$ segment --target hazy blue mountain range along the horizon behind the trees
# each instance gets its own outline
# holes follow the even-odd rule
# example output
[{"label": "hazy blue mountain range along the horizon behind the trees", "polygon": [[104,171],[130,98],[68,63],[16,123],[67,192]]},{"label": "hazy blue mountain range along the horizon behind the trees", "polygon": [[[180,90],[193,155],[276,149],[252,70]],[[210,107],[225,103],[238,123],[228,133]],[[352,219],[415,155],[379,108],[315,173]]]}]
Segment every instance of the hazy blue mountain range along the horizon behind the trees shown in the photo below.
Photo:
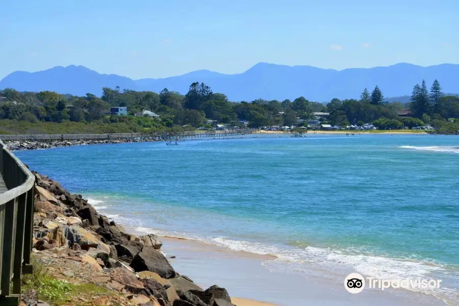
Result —
[{"label": "hazy blue mountain range along the horizon behind the trees", "polygon": [[322,69],[312,66],[286,66],[258,63],[237,74],[197,70],[164,79],[133,80],[116,74],[101,74],[84,66],[57,66],[44,71],[15,71],[0,81],[0,89],[18,91],[57,91],[73,95],[100,96],[102,87],[160,92],[167,88],[185,94],[193,82],[204,82],[214,92],[232,101],[294,99],[304,96],[325,102],[332,98],[358,98],[364,88],[378,85],[386,97],[411,94],[413,86],[425,80],[430,87],[438,79],[444,92],[459,92],[459,65],[422,67],[400,63],[387,67]]}]

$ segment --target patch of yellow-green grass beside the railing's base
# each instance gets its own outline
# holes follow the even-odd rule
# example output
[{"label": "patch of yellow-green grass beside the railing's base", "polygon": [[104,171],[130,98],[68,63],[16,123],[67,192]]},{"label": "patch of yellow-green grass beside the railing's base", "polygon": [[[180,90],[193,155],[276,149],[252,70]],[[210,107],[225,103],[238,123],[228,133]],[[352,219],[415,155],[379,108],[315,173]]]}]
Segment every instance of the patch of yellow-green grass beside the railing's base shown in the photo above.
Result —
[{"label": "patch of yellow-green grass beside the railing's base", "polygon": [[[47,272],[46,266],[32,258],[34,272],[22,277],[22,293],[36,290],[38,299],[46,301],[50,305],[66,305],[70,301],[78,298],[91,298],[98,295],[114,295],[108,288],[92,283],[71,284],[61,279],[57,279]],[[80,305],[87,303],[80,302]]]}]

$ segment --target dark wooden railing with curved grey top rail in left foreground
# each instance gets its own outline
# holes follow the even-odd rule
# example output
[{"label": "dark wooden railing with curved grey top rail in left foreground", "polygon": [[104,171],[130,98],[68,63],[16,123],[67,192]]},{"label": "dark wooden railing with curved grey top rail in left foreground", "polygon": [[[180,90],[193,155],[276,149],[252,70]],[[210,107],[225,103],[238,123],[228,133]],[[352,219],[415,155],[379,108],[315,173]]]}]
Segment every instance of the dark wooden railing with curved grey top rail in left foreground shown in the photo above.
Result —
[{"label": "dark wooden railing with curved grey top rail in left foreground", "polygon": [[19,305],[21,273],[32,273],[30,253],[35,176],[0,141],[0,305]]}]

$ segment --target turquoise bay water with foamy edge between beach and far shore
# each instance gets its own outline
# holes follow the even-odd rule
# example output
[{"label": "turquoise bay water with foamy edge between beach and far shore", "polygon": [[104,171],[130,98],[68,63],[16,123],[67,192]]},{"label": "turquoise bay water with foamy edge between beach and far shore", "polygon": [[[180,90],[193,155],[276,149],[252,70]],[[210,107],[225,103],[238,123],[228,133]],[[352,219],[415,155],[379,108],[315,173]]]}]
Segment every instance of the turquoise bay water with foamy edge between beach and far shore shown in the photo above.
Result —
[{"label": "turquoise bay water with foamy edge between beach and far shore", "polygon": [[[309,135],[15,154],[138,232],[272,254],[267,266],[440,278],[459,294],[459,138]],[[457,296],[455,297],[457,298]]]}]

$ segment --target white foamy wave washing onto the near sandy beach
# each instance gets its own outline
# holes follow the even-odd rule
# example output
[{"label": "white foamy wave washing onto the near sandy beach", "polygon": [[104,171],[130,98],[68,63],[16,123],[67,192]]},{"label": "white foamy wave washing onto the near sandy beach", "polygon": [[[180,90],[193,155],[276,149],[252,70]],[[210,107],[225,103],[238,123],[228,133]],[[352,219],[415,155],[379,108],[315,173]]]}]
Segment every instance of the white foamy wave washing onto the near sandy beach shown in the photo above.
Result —
[{"label": "white foamy wave washing onto the near sandy beach", "polygon": [[[459,284],[459,275],[456,269],[450,269],[432,262],[415,261],[412,259],[395,259],[372,254],[363,254],[356,249],[338,250],[331,247],[308,246],[302,243],[296,245],[270,245],[259,242],[235,240],[227,237],[200,237],[194,234],[158,231],[147,227],[136,227],[139,233],[154,233],[163,237],[177,239],[197,240],[200,242],[226,247],[234,251],[245,251],[273,257],[266,260],[263,265],[267,268],[275,267],[296,272],[309,273],[313,268],[322,268],[334,273],[349,271],[358,272],[367,277],[379,279],[443,279],[446,284]],[[445,284],[446,283],[446,284]],[[436,296],[442,300],[455,300],[457,291],[449,287],[435,289],[412,289]]]}]

